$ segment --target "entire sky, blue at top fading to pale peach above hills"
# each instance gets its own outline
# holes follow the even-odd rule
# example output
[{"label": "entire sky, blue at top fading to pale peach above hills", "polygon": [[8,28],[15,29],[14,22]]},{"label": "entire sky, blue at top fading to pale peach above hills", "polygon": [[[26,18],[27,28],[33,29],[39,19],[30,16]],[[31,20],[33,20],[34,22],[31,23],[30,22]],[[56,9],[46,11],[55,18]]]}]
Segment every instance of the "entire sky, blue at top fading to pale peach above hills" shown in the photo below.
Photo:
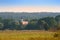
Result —
[{"label": "entire sky, blue at top fading to pale peach above hills", "polygon": [[60,12],[60,0],[0,0],[0,12]]}]

